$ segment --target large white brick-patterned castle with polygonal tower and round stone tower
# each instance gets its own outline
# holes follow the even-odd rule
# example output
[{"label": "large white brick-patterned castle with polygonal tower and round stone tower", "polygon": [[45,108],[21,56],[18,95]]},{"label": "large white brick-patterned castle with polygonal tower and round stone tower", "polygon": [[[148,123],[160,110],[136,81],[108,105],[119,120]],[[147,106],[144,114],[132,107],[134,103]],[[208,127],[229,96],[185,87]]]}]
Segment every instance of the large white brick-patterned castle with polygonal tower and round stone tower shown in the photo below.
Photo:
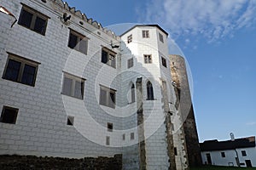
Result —
[{"label": "large white brick-patterned castle with polygonal tower and round stone tower", "polygon": [[201,164],[185,62],[160,26],[116,36],[61,0],[2,2],[0,155]]}]

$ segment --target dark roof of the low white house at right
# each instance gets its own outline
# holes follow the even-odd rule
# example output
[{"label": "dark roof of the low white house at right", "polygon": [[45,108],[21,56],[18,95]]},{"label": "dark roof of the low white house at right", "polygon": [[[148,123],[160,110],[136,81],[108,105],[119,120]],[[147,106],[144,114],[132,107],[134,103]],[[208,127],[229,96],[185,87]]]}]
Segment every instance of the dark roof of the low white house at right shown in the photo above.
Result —
[{"label": "dark roof of the low white house at right", "polygon": [[212,151],[212,150],[235,150],[238,148],[251,148],[255,147],[255,136],[235,139],[218,141],[214,140],[206,140],[203,143],[200,143],[201,151]]}]

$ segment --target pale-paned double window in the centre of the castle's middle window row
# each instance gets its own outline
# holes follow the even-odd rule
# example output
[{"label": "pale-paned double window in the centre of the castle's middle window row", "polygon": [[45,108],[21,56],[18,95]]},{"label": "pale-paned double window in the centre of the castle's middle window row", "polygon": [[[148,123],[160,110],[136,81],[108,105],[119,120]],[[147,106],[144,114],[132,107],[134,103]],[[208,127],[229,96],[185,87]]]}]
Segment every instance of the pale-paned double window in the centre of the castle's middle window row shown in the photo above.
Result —
[{"label": "pale-paned double window in the centre of the castle's middle window row", "polygon": [[83,78],[64,73],[61,94],[84,99],[84,81],[85,79]]}]

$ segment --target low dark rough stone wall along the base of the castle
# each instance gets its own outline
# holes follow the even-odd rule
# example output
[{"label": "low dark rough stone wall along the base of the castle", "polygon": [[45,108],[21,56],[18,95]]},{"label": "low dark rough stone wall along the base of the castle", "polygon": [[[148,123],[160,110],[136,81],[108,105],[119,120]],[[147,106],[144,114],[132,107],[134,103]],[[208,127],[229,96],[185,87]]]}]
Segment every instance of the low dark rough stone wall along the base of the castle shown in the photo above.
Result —
[{"label": "low dark rough stone wall along the base of the castle", "polygon": [[122,169],[122,155],[114,157],[84,157],[68,159],[60,157],[0,156],[0,169]]}]

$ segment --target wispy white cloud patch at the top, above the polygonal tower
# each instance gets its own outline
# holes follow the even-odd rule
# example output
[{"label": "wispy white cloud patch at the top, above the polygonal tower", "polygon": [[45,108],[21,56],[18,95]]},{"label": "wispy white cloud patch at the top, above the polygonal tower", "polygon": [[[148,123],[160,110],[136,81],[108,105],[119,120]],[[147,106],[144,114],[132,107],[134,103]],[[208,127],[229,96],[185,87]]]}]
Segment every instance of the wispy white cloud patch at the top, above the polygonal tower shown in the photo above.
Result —
[{"label": "wispy white cloud patch at the top, above the polygonal tower", "polygon": [[142,20],[159,23],[172,37],[202,35],[211,42],[255,24],[256,1],[151,0]]}]

